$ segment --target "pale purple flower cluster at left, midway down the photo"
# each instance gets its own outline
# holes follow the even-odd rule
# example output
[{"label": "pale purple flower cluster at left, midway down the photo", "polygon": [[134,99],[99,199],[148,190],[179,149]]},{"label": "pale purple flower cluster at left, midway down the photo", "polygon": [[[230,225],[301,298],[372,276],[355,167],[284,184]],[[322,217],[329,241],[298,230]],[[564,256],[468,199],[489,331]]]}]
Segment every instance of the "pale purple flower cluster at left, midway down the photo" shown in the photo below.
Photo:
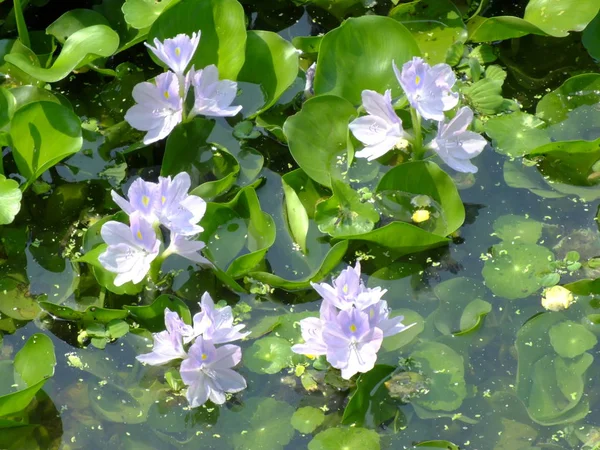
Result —
[{"label": "pale purple flower cluster at left, midway down the photo", "polygon": [[204,216],[206,202],[188,195],[190,185],[190,176],[182,172],[173,179],[159,177],[158,183],[138,178],[129,187],[127,200],[111,192],[115,203],[129,215],[129,226],[111,220],[100,230],[108,247],[98,260],[106,270],[117,274],[116,286],[128,281],[139,283],[150,271],[151,264],[159,257],[161,244],[167,242],[160,226],[170,233],[169,245],[159,261],[178,254],[200,264],[210,264],[199,253],[205,247],[204,242],[195,239],[203,231],[198,222]]}]

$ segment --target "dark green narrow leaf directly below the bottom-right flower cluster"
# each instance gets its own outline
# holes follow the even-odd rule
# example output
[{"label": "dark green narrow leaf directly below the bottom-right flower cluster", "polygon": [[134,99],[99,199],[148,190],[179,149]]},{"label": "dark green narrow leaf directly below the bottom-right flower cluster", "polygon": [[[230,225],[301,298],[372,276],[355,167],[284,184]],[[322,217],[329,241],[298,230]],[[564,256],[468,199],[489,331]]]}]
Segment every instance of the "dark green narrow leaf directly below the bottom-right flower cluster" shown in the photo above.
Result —
[{"label": "dark green narrow leaf directly below the bottom-right flower cluster", "polygon": [[[377,389],[383,387],[385,380],[394,372],[394,367],[378,364],[356,380],[356,388],[344,409],[342,424],[363,426],[369,409],[380,408],[380,399],[375,399]],[[377,401],[376,401],[377,400]]]}]

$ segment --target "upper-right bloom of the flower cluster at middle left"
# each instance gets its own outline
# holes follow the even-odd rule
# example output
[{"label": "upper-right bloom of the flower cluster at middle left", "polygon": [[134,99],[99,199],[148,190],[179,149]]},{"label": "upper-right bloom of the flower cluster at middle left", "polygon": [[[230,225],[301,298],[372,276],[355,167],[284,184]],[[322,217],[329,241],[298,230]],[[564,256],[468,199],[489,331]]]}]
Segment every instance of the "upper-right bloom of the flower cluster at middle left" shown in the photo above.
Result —
[{"label": "upper-right bloom of the flower cluster at middle left", "polygon": [[198,222],[206,212],[206,202],[188,195],[192,182],[186,172],[171,177],[159,177],[156,215],[171,232],[192,236],[204,230]]}]

